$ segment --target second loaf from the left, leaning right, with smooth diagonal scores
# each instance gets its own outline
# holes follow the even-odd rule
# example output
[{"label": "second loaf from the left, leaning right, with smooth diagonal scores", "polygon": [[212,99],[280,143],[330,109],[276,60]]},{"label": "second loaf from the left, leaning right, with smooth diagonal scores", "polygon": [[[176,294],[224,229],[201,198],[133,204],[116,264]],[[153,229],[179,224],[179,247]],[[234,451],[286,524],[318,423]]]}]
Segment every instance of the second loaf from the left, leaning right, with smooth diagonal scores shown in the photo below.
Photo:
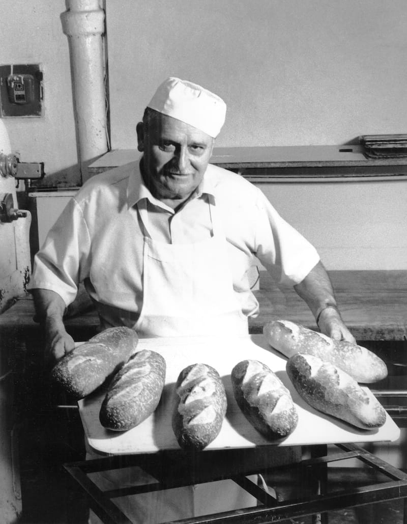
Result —
[{"label": "second loaf from the left, leaning right, with smooth diagonal scores", "polygon": [[113,377],[99,413],[101,424],[127,431],[156,410],[166,378],[166,361],[155,351],[143,350]]}]

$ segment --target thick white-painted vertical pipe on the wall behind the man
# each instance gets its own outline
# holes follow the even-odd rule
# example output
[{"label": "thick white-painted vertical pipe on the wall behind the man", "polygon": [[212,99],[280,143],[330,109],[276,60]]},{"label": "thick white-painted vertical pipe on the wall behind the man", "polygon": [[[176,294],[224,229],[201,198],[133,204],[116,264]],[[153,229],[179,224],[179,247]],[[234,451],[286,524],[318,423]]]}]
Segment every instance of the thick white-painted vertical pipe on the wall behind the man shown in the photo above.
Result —
[{"label": "thick white-painted vertical pipe on the wall behind the man", "polygon": [[87,166],[107,151],[103,40],[105,14],[98,0],[68,0],[61,15],[71,53],[73,103],[82,182]]}]

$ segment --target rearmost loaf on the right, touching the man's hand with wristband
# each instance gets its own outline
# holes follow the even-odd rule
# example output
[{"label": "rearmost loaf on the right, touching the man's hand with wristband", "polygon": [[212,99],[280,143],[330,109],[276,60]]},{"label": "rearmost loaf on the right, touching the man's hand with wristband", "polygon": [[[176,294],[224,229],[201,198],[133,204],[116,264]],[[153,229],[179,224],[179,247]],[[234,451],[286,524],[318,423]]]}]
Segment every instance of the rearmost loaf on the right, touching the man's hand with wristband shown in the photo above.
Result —
[{"label": "rearmost loaf on the right, touching the man's hand with wristband", "polygon": [[263,327],[267,342],[287,358],[302,353],[321,358],[348,373],[357,382],[370,384],[387,377],[386,364],[366,347],[338,341],[288,320]]}]

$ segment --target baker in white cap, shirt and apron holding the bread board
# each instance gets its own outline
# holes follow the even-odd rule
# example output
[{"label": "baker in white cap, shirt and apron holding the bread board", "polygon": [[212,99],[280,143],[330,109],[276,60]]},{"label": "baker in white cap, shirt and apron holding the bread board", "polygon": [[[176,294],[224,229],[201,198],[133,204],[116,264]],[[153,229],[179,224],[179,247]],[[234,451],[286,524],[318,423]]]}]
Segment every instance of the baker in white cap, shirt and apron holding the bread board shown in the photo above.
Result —
[{"label": "baker in white cap, shirt and apron holding the bread board", "polygon": [[[315,248],[259,188],[210,165],[225,114],[214,93],[168,78],[137,124],[141,159],[92,177],[68,203],[29,285],[52,359],[74,347],[63,315],[81,282],[102,330],[247,334],[259,308],[248,276],[254,257],[294,287],[323,333],[354,341]],[[193,511],[193,503],[180,509],[177,496],[167,499],[172,519]]]}]

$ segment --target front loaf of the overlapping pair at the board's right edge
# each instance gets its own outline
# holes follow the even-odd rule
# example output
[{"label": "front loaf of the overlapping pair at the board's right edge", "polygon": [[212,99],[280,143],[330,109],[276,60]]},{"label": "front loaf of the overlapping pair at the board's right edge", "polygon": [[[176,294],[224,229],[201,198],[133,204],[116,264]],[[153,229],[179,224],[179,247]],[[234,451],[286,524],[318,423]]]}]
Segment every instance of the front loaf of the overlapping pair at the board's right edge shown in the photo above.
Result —
[{"label": "front loaf of the overlapping pair at the board's right edge", "polygon": [[286,367],[299,395],[318,411],[361,429],[379,428],[386,422],[386,411],[372,392],[333,364],[297,354]]}]

